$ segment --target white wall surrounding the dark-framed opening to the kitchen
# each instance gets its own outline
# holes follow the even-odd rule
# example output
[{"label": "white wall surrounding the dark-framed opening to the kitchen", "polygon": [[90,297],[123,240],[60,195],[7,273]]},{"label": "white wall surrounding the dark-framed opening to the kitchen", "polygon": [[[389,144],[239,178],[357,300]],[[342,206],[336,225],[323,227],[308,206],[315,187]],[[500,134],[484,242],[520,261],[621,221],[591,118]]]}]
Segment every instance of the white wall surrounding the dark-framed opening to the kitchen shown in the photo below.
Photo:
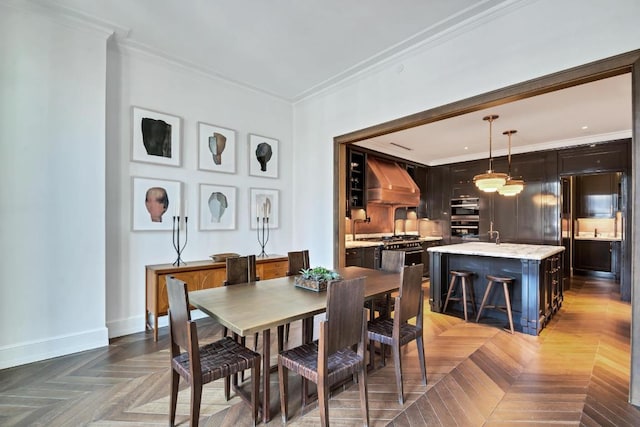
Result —
[{"label": "white wall surrounding the dark-framed opening to the kitchen", "polygon": [[[452,32],[295,105],[301,245],[332,263],[333,138],[368,126],[640,48],[640,2],[515,2],[491,21]],[[433,143],[440,143],[434,141]],[[317,180],[308,179],[318,177]]]}]

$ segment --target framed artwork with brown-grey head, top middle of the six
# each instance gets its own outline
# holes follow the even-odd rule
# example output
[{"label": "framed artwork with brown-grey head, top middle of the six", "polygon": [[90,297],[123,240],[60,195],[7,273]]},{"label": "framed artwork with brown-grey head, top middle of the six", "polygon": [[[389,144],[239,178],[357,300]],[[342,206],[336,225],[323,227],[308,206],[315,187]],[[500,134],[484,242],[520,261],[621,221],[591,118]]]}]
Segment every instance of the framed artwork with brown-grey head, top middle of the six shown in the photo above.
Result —
[{"label": "framed artwork with brown-grey head, top middle of the six", "polygon": [[198,169],[236,173],[236,131],[198,122]]}]

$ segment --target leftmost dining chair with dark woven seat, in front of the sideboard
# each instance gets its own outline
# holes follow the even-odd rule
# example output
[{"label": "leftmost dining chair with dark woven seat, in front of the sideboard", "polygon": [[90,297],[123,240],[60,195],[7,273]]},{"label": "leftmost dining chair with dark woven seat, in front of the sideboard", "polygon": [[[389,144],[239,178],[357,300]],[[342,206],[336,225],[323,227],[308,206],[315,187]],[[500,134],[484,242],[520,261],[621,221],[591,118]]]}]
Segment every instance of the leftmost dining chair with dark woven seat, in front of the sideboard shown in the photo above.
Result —
[{"label": "leftmost dining chair with dark woven seat, in front of the sideboard", "polygon": [[[251,351],[229,337],[202,347],[198,344],[198,329],[191,320],[187,284],[167,277],[169,297],[169,340],[171,343],[171,398],[169,425],[176,419],[180,377],[191,385],[191,426],[197,427],[204,384],[224,378],[224,397],[229,400],[230,376],[251,369],[251,410],[254,425],[258,422],[260,391],[260,354]],[[181,353],[182,349],[185,351]]]}]

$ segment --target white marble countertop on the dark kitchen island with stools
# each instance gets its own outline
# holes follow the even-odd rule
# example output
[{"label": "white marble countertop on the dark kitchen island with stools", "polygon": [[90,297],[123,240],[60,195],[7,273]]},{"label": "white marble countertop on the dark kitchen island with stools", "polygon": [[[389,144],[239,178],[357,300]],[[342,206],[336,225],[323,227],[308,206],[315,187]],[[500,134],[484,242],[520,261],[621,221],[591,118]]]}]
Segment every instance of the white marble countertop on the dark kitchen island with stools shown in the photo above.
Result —
[{"label": "white marble countertop on the dark kitchen island with stools", "polygon": [[443,252],[458,255],[479,255],[496,258],[542,260],[564,251],[564,246],[524,245],[519,243],[470,242],[456,245],[434,246],[429,252]]}]

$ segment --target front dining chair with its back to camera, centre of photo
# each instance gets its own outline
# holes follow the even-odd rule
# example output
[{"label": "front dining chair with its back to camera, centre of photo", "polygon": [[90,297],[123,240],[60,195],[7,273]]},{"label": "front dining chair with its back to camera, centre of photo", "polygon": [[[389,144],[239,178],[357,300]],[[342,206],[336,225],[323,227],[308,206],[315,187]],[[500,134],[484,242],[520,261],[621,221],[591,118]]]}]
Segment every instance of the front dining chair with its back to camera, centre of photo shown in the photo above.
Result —
[{"label": "front dining chair with its back to camera, centre of photo", "polygon": [[[317,341],[285,350],[278,355],[280,409],[287,422],[289,371],[317,385],[320,423],[329,425],[331,386],[358,375],[360,407],[369,425],[369,402],[365,366],[367,313],[364,303],[364,277],[330,282],[327,288],[325,320],[320,322]],[[357,347],[357,351],[354,348]]]}]

